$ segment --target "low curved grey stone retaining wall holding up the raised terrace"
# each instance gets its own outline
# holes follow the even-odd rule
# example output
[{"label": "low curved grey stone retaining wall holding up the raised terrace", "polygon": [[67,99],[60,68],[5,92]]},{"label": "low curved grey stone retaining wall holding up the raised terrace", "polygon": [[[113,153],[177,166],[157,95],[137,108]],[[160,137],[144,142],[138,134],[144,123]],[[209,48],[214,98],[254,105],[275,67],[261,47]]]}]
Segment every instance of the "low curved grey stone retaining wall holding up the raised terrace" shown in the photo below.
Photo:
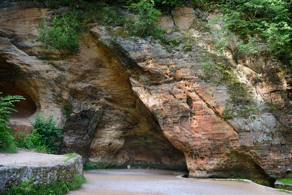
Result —
[{"label": "low curved grey stone retaining wall holding up the raised terrace", "polygon": [[73,176],[83,176],[83,164],[81,156],[67,162],[55,162],[47,165],[26,165],[18,167],[0,167],[0,191],[18,185],[25,179],[35,178],[34,184],[40,182],[47,185],[52,182],[72,181]]}]

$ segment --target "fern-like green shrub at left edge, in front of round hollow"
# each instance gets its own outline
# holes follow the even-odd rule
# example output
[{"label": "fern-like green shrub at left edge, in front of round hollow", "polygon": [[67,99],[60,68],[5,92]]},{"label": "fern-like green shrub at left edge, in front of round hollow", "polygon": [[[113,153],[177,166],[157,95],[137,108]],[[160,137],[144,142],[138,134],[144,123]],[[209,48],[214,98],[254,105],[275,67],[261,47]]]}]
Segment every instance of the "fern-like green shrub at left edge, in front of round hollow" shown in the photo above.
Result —
[{"label": "fern-like green shrub at left edge, in front of round hollow", "polygon": [[[0,92],[0,95],[2,93]],[[10,123],[12,111],[17,112],[13,103],[25,99],[22,96],[1,96],[0,97],[0,152],[17,153],[17,147],[14,143],[12,131],[6,123]]]}]

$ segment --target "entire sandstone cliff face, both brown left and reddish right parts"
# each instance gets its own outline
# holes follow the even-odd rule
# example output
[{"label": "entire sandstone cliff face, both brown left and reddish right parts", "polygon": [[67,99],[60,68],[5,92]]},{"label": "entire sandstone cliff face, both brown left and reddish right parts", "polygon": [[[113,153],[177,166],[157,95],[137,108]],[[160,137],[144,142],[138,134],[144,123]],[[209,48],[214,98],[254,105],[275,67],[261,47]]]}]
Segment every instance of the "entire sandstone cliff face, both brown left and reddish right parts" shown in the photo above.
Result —
[{"label": "entire sandstone cliff face, both brown left and reddish right parts", "polygon": [[[264,47],[239,51],[232,33],[220,55],[214,45],[224,35],[210,36],[220,22],[205,27],[215,13],[175,8],[159,25],[179,28],[167,36],[182,43],[168,46],[92,23],[81,53],[59,60],[34,42],[41,13],[33,4],[1,6],[0,86],[60,117],[63,152],[99,167],[187,166],[191,177],[269,182],[291,171],[290,70]],[[31,28],[25,40],[13,30],[19,18]]]}]

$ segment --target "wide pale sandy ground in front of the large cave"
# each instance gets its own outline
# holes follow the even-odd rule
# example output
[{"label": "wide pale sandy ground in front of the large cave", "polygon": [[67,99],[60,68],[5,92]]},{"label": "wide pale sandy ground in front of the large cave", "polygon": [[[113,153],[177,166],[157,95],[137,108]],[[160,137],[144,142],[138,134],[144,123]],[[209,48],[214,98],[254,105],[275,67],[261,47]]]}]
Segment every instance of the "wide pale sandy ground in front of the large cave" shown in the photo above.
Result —
[{"label": "wide pale sandy ground in front of the large cave", "polygon": [[175,171],[120,169],[85,171],[87,183],[69,195],[285,195],[238,181],[179,178]]}]

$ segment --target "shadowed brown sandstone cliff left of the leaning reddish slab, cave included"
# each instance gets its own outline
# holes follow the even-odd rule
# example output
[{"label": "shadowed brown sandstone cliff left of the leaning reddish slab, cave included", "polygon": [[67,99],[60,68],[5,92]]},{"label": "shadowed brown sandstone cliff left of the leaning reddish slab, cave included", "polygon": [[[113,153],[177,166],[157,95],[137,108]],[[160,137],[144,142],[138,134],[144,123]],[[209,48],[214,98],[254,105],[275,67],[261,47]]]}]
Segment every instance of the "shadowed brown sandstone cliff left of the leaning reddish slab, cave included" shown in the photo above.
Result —
[{"label": "shadowed brown sandstone cliff left of the leaning reddish slab, cave included", "polygon": [[[9,36],[3,35],[0,83],[5,87],[1,89],[16,95],[20,88],[37,105],[36,113],[60,118],[59,125],[64,126],[63,153],[79,153],[85,161],[101,168],[131,164],[187,169],[183,153],[167,140],[157,121],[134,95],[127,78],[121,76],[125,69],[119,60],[97,44],[96,38],[89,35],[82,39],[78,56],[60,60],[57,52],[40,50],[39,43],[34,42],[41,13],[50,17],[52,12],[39,12],[27,2],[14,5],[2,5],[6,9],[0,19],[1,29],[21,19],[24,24],[19,22],[18,26],[26,28],[29,23],[32,35],[17,39],[18,43],[12,41],[18,31],[6,30]],[[12,13],[13,17],[9,17]],[[24,50],[19,45],[30,47]],[[12,72],[17,74],[11,75]],[[27,120],[16,117],[12,122]]]}]

